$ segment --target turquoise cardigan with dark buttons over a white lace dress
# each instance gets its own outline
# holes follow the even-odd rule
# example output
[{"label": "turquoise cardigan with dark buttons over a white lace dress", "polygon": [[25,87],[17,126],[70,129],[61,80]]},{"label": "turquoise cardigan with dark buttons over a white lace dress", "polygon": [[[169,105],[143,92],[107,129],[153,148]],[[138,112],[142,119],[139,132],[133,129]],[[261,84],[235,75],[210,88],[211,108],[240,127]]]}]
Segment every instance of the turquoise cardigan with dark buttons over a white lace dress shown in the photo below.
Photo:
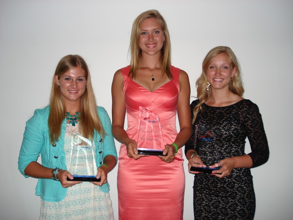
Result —
[{"label": "turquoise cardigan with dark buttons over a white lace dress", "polygon": [[[43,109],[36,109],[34,115],[26,122],[21,150],[18,157],[18,170],[25,177],[28,177],[28,175],[24,174],[25,167],[29,163],[37,161],[39,155],[41,155],[43,166],[52,169],[59,167],[63,170],[67,170],[64,153],[64,134],[67,122],[66,120],[62,122],[60,136],[62,138],[55,143],[56,146],[53,146],[49,138],[49,111],[50,106]],[[98,132],[95,132],[93,139],[96,145],[96,163],[97,166],[100,166],[107,155],[113,155],[117,160],[117,151],[108,114],[106,110],[100,106],[97,106],[97,111],[106,132],[104,139],[102,139]],[[103,184],[100,189],[108,193],[108,182]],[[52,179],[39,178],[35,190],[36,195],[48,202],[60,202],[67,193],[67,188],[63,188],[60,182]]]}]

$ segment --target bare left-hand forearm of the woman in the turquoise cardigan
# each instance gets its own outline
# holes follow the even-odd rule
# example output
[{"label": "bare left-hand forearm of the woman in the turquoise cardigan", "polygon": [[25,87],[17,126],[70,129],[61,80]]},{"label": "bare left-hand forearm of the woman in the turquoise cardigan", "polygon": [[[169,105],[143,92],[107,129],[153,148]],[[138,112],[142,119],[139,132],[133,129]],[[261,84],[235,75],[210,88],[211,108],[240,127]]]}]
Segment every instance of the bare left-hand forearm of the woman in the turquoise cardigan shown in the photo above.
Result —
[{"label": "bare left-hand forearm of the woman in the turquoise cardigan", "polygon": [[44,167],[38,162],[33,161],[27,165],[27,167],[24,170],[24,173],[25,175],[28,175],[30,177],[52,179],[51,171],[53,168]]}]

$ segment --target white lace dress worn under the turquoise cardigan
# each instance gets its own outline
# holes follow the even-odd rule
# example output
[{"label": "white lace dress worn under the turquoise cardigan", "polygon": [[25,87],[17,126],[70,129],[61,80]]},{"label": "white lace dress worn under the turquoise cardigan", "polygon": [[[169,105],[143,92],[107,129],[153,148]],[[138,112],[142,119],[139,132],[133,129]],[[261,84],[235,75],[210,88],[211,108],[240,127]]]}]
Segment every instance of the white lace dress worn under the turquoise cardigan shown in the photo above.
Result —
[{"label": "white lace dress worn under the turquoise cardigan", "polygon": [[[78,133],[75,127],[66,125],[64,137],[65,163],[69,170],[71,152],[71,132]],[[93,147],[94,142],[93,142]],[[68,187],[67,194],[61,202],[45,202],[41,200],[40,219],[114,219],[112,202],[109,193],[104,193],[99,186],[83,182]]]}]

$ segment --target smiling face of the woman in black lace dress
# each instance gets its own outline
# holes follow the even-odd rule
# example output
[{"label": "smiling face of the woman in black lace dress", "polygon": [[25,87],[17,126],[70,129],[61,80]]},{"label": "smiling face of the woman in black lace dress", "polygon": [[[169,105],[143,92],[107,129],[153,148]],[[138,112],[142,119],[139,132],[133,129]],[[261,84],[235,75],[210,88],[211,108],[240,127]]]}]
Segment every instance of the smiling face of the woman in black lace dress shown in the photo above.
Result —
[{"label": "smiling face of the woman in black lace dress", "polygon": [[231,77],[234,77],[236,67],[233,67],[226,53],[214,57],[207,67],[207,81],[213,89],[228,89]]}]

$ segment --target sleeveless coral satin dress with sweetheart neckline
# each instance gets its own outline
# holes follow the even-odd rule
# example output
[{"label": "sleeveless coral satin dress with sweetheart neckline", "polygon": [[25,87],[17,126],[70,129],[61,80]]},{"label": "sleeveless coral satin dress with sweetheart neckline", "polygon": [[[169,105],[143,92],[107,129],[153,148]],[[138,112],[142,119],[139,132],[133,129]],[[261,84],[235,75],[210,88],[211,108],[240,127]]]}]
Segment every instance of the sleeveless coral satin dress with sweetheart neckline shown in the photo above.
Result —
[{"label": "sleeveless coral satin dress with sweetheart neckline", "polygon": [[[137,140],[139,106],[142,106],[159,115],[164,144],[173,143],[178,133],[176,109],[180,70],[172,66],[173,79],[154,92],[128,77],[130,66],[121,70],[128,136]],[[182,219],[185,189],[182,149],[172,163],[166,163],[157,156],[129,158],[126,146],[121,144],[117,188],[119,220]]]}]

